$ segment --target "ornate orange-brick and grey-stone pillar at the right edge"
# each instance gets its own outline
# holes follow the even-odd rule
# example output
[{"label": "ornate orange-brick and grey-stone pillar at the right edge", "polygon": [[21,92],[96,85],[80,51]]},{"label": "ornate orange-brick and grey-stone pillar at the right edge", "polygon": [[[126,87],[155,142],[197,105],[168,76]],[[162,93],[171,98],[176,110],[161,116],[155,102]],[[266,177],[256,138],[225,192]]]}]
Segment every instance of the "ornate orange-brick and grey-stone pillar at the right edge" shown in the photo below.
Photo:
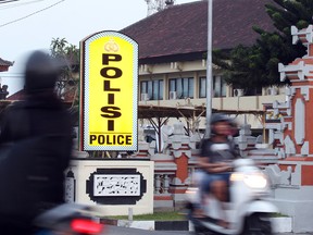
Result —
[{"label": "ornate orange-brick and grey-stone pillar at the right edge", "polygon": [[278,65],[280,81],[290,81],[286,101],[273,103],[273,119],[267,125],[270,144],[278,158],[265,168],[273,184],[273,197],[283,214],[292,218],[295,233],[312,232],[313,224],[313,26],[291,27],[292,44],[308,48],[303,58]]}]

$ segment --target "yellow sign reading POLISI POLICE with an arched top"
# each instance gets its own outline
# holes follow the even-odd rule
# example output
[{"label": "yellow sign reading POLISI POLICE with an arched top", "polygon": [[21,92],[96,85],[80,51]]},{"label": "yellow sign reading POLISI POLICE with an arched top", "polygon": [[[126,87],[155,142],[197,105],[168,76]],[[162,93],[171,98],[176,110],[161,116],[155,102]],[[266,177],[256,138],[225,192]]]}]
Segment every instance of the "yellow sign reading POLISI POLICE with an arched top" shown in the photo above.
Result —
[{"label": "yellow sign reading POLISI POLICE with an arched top", "polygon": [[80,149],[137,150],[137,42],[100,32],[80,50]]}]

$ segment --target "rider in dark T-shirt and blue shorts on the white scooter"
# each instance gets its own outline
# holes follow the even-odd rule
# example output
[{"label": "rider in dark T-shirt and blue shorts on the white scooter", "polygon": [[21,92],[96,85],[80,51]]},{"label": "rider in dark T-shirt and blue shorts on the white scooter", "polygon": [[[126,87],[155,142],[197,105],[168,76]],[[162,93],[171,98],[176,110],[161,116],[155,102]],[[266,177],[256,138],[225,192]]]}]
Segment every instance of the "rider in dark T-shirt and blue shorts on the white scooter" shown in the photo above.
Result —
[{"label": "rider in dark T-shirt and blue shorts on the white scooter", "polygon": [[[209,193],[220,201],[227,200],[227,185],[231,172],[229,161],[238,156],[235,143],[230,137],[234,134],[234,121],[223,113],[214,113],[211,116],[210,125],[211,136],[201,143],[201,154],[198,162],[198,166],[205,172],[200,183],[200,205],[205,203]],[[199,211],[202,213],[201,209]],[[226,226],[224,221],[221,221],[221,225]]]}]

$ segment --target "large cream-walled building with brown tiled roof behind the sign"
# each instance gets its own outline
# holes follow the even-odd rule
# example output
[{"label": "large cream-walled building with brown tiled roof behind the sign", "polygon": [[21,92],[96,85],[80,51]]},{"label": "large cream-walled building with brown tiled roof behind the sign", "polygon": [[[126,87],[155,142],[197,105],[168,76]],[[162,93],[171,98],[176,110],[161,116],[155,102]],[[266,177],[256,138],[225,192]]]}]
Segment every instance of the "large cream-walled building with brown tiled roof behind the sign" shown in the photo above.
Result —
[{"label": "large cream-walled building with brown tiled roof behind the sign", "polygon": [[[271,0],[214,1],[213,49],[230,50],[240,44],[252,45],[259,36],[253,25],[274,30],[265,3],[274,4]],[[139,104],[205,106],[208,1],[168,5],[122,33],[139,44]],[[246,94],[233,89],[223,81],[223,71],[214,65],[213,89],[213,109],[241,114],[238,121],[247,121],[259,133],[263,128],[263,104],[285,99],[285,89],[276,87]],[[204,126],[202,118],[199,128]]]}]

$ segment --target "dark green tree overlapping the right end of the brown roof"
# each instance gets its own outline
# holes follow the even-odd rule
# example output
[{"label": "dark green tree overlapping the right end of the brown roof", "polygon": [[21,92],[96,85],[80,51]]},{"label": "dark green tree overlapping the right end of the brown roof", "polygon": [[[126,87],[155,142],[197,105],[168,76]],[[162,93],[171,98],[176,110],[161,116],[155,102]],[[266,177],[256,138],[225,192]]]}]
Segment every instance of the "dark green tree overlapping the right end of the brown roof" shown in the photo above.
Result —
[{"label": "dark green tree overlapping the right end of the brown roof", "polygon": [[273,0],[273,4],[265,4],[265,9],[273,20],[275,32],[266,32],[254,26],[253,30],[260,38],[253,46],[239,45],[227,55],[221,51],[213,53],[214,63],[225,70],[225,81],[233,87],[285,85],[286,83],[279,81],[278,63],[288,64],[305,54],[304,46],[300,42],[292,45],[290,28],[295,25],[301,29],[313,23],[313,1]]}]

